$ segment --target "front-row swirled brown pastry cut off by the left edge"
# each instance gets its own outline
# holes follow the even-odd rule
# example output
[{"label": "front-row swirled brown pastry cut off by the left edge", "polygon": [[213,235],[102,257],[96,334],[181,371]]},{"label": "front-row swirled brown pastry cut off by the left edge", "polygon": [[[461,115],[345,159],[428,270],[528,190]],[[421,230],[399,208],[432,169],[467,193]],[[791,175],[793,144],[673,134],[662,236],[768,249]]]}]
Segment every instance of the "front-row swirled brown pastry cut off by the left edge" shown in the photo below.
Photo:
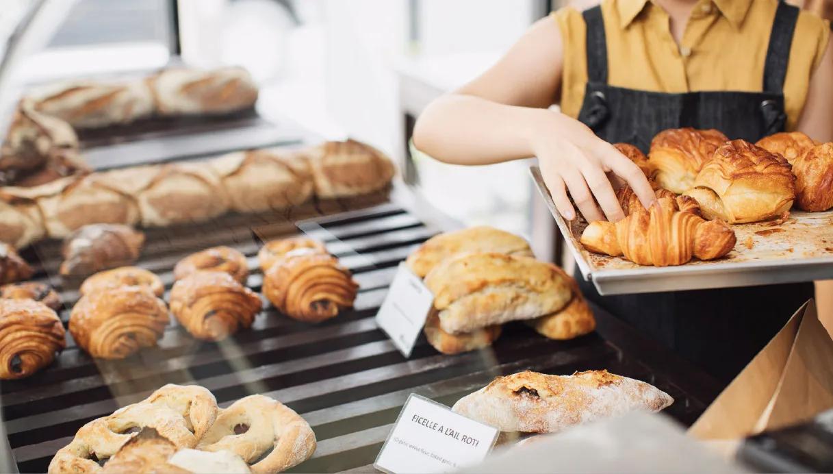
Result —
[{"label": "front-row swirled brown pastry cut off by the left edge", "polygon": [[67,347],[63,325],[45,304],[0,299],[0,379],[29,377]]}]

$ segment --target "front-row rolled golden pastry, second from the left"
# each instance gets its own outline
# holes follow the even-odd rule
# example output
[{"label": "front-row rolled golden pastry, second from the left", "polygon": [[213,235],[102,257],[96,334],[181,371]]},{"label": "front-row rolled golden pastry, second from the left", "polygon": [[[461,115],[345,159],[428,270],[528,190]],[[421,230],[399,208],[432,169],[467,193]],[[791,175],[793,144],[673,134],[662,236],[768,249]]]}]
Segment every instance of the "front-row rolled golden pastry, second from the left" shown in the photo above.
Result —
[{"label": "front-row rolled golden pastry, second from the left", "polygon": [[84,295],[72,307],[69,332],[92,357],[123,359],[153,347],[169,319],[165,302],[147,287],[120,287]]}]

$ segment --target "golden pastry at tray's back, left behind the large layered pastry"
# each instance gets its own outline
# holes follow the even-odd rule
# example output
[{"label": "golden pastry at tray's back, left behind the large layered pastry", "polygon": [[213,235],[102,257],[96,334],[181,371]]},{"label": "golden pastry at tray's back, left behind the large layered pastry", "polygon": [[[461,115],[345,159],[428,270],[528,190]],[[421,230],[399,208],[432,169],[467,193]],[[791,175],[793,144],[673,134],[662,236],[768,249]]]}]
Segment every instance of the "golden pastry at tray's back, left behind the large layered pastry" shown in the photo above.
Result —
[{"label": "golden pastry at tray's back, left behind the large layered pastry", "polygon": [[671,128],[656,134],[651,140],[648,160],[656,169],[660,187],[682,194],[694,186],[694,178],[717,147],[729,138],[716,130]]}]

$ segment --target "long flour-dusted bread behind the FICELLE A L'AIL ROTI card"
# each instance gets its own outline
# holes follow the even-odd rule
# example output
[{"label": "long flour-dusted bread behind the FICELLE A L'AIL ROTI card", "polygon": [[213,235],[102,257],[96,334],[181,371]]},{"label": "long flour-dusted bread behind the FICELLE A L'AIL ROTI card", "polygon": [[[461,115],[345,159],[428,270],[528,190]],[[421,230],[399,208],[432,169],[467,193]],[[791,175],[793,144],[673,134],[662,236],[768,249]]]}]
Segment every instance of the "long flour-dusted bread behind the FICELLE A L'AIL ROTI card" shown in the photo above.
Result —
[{"label": "long flour-dusted bread behind the FICELLE A L'AIL ROTI card", "polygon": [[607,371],[571,376],[519,372],[496,377],[452,410],[503,432],[560,432],[635,410],[659,412],[674,400],[646,382]]}]

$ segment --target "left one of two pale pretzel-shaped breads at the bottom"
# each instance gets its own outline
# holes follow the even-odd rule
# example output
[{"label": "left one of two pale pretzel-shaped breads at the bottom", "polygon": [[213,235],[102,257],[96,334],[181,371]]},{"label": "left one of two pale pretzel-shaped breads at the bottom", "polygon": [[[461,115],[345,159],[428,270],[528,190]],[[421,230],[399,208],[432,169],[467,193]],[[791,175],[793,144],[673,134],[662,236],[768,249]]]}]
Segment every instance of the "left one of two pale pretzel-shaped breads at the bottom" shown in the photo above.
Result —
[{"label": "left one of two pale pretzel-shaped breads at the bottom", "polygon": [[194,447],[215,419],[217,400],[206,388],[168,384],[142,402],[81,427],[72,442],[52,458],[48,472],[101,471],[96,460],[111,457],[136,436],[130,432],[133,428],[154,428],[177,449]]}]

